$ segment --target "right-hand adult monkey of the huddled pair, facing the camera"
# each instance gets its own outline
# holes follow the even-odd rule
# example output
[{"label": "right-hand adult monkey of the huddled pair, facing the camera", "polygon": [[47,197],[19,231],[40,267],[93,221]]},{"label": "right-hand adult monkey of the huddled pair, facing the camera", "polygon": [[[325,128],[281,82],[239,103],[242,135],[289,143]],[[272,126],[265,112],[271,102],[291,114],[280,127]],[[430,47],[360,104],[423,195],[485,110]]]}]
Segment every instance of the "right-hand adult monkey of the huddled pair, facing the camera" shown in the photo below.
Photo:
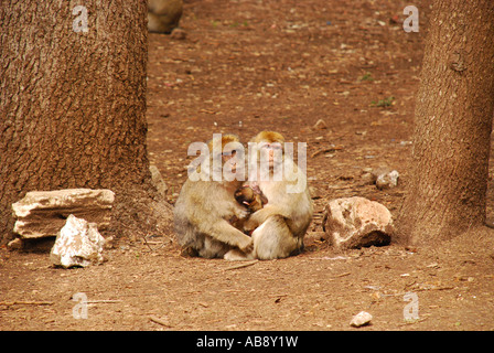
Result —
[{"label": "right-hand adult monkey of the huddled pair, facing the camera", "polygon": [[[253,253],[241,256],[232,252],[227,255],[228,259],[276,259],[296,255],[303,249],[303,237],[313,215],[307,176],[297,163],[286,156],[284,138],[281,133],[261,131],[251,142],[257,160],[249,163],[249,171],[253,172],[249,180],[256,179],[255,183],[269,203],[251,214],[245,223],[247,231],[254,229]],[[262,162],[267,164],[265,175],[257,172],[259,160],[261,168]],[[281,168],[282,176],[275,178]]]}]

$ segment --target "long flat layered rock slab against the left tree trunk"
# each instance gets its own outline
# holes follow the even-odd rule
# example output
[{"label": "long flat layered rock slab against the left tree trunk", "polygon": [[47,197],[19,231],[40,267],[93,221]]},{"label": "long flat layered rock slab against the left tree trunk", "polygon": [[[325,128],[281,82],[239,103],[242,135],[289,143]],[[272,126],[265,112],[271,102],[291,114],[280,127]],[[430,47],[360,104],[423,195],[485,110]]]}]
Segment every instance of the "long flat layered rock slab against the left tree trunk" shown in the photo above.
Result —
[{"label": "long flat layered rock slab against the left tree trunk", "polygon": [[111,190],[65,189],[31,191],[12,204],[17,222],[13,232],[21,238],[56,236],[69,214],[109,226],[115,194]]}]

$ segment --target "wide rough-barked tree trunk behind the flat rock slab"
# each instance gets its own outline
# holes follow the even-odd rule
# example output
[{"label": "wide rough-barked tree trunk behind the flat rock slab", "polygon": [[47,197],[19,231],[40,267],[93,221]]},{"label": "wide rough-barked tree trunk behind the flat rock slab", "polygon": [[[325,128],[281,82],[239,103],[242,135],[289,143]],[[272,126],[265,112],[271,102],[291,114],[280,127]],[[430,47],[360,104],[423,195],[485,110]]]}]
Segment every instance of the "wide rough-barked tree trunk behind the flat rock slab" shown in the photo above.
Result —
[{"label": "wide rough-barked tree trunk behind the flat rock slab", "polygon": [[0,21],[0,240],[32,190],[112,190],[118,234],[168,217],[147,157],[147,2],[1,0]]}]

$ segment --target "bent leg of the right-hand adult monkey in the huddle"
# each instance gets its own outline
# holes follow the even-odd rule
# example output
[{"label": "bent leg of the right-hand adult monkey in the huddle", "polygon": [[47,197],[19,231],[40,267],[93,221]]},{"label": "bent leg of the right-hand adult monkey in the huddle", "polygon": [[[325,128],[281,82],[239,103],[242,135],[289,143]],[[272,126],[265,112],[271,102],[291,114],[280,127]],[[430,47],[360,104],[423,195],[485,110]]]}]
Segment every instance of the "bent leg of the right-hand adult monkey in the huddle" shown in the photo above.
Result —
[{"label": "bent leg of the right-hand adult monkey in the huddle", "polygon": [[302,246],[301,239],[294,237],[280,215],[268,217],[253,233],[254,256],[269,260],[290,256]]}]

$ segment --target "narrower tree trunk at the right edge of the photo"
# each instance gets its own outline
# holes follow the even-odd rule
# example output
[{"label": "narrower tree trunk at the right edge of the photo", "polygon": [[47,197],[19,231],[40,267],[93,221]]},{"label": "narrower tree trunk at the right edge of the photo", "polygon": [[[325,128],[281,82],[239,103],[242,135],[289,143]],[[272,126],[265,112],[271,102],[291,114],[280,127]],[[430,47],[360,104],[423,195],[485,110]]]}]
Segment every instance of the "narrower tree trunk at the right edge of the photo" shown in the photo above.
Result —
[{"label": "narrower tree trunk at the right edge of the photo", "polygon": [[494,2],[433,4],[398,240],[450,239],[485,222],[494,113]]}]

